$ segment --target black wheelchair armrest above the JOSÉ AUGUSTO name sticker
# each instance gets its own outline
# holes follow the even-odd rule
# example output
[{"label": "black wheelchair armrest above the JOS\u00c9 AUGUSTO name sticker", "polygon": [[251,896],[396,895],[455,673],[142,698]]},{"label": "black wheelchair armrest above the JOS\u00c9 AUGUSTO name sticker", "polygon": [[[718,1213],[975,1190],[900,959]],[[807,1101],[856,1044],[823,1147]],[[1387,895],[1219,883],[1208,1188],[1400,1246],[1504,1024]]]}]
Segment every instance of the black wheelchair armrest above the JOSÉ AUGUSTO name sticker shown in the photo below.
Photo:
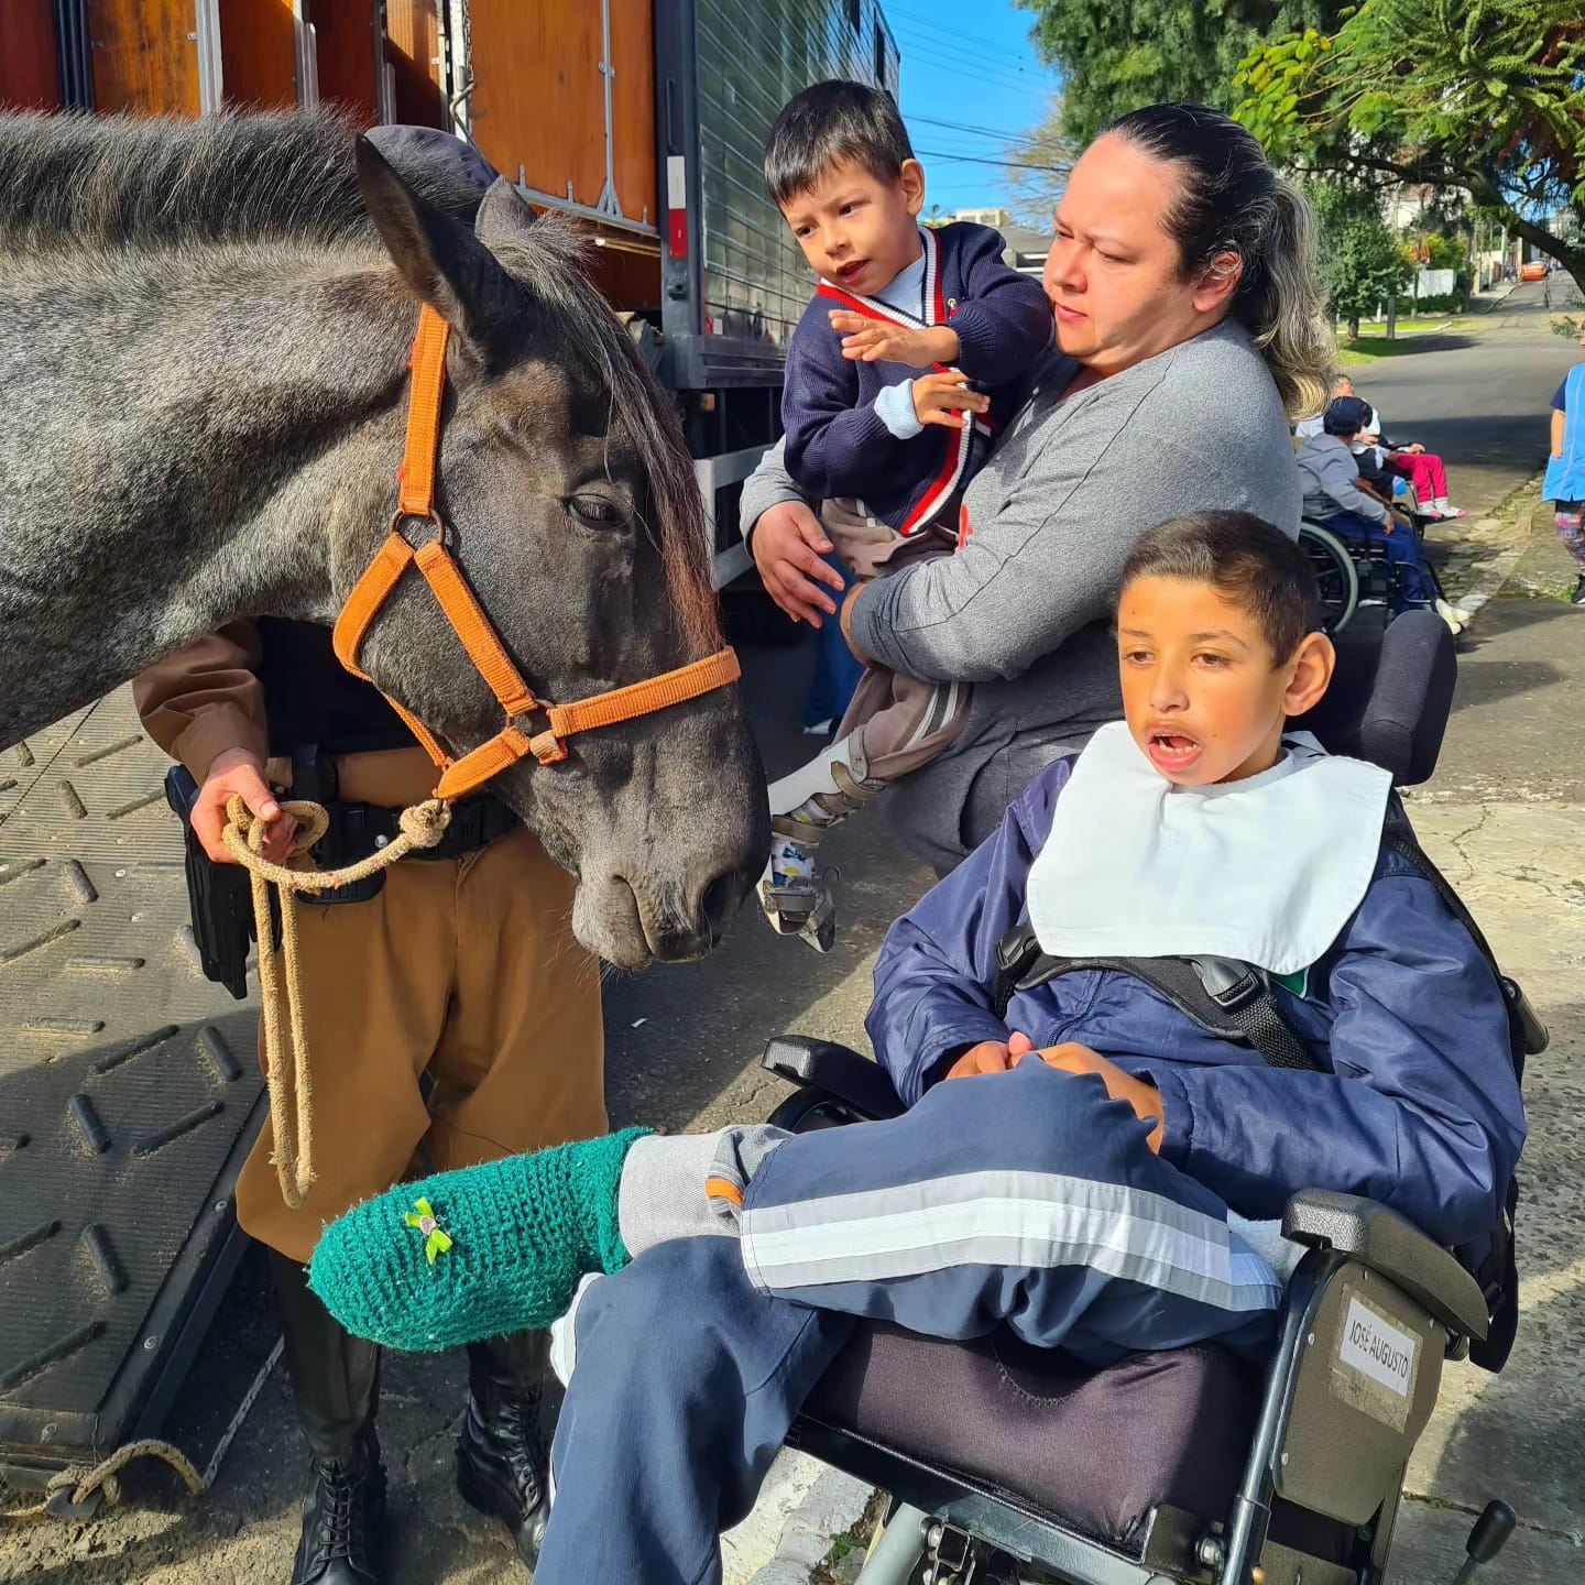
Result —
[{"label": "black wheelchair armrest above the JOS\u00c9 AUGUSTO name sticker", "polygon": [[1396,1211],[1352,1194],[1304,1189],[1282,1213],[1282,1236],[1358,1260],[1457,1336],[1485,1339],[1490,1320],[1480,1284]]}]

